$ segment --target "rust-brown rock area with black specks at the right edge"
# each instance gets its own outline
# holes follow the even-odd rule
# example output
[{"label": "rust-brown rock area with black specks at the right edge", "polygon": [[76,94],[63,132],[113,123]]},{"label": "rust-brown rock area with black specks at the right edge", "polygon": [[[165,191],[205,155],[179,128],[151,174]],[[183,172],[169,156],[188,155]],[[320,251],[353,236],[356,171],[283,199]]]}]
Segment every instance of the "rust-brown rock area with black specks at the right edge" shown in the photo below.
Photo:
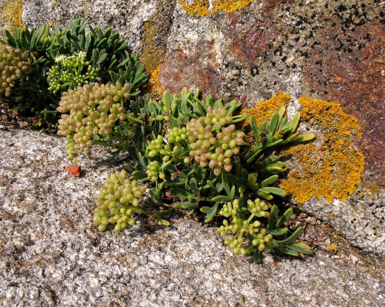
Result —
[{"label": "rust-brown rock area with black specks at the right edge", "polygon": [[327,35],[304,69],[304,91],[341,103],[359,119],[363,136],[357,144],[366,158],[365,179],[383,185],[385,150],[378,148],[385,148],[381,124],[385,115],[385,26],[370,21],[342,30],[328,24],[324,31]]}]

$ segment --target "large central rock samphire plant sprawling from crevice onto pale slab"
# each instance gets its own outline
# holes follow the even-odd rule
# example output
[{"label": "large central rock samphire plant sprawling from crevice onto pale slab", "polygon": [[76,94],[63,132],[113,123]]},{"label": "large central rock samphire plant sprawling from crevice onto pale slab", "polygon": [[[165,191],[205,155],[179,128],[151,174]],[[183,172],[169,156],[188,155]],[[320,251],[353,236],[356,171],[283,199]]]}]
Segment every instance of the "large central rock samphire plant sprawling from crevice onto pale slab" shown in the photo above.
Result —
[{"label": "large central rock samphire plant sprawling from crevice onto pale slab", "polygon": [[[169,225],[167,213],[199,210],[205,222],[222,224],[218,232],[235,254],[256,262],[263,251],[311,254],[298,241],[302,228],[290,234],[285,226],[293,210],[279,217],[272,204],[274,196],[286,195],[275,184],[288,169],[275,150],[315,137],[297,130],[299,112],[288,120],[281,108],[259,126],[250,116],[244,129],[248,115],[237,114],[236,101],[201,100],[198,90],[186,89],[153,101],[130,94],[131,88],[121,82],[77,87],[63,94],[58,109],[65,113],[58,133],[67,137],[69,159],[99,144],[111,147],[110,159],[121,153],[138,161],[125,163],[131,175],[123,170],[107,178],[93,219],[100,231],[133,225],[135,212]],[[144,185],[148,197],[141,201]]]}]

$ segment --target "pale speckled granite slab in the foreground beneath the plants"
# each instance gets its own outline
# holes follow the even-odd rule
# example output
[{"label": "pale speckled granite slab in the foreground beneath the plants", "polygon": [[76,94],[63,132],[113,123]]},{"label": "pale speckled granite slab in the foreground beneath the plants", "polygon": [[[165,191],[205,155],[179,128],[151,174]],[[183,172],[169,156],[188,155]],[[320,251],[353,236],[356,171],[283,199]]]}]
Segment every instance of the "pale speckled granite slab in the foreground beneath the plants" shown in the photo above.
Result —
[{"label": "pale speckled granite slab in the foreground beneath the plants", "polygon": [[[0,130],[0,301],[3,306],[383,306],[379,258],[349,265],[234,256],[214,227],[174,215],[170,227],[100,233],[95,193],[119,170],[103,148],[65,171],[64,138]],[[383,265],[383,264],[382,264]],[[373,273],[373,269],[375,270]]]}]

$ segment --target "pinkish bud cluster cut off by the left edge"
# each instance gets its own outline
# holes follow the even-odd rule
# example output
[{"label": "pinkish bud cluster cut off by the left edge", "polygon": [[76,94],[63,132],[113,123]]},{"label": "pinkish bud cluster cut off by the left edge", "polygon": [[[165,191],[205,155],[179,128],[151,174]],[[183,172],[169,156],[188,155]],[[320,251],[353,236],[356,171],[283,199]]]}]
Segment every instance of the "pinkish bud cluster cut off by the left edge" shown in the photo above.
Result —
[{"label": "pinkish bud cluster cut off by the left edge", "polygon": [[10,97],[17,80],[26,78],[31,71],[31,64],[20,49],[9,45],[0,47],[0,94]]}]

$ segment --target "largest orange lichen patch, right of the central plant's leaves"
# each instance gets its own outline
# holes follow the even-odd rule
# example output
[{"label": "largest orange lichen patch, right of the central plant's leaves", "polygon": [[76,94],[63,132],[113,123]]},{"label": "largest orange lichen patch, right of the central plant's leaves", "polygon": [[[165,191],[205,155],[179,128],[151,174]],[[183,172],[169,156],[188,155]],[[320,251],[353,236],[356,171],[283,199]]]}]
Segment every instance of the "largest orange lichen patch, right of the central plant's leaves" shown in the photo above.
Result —
[{"label": "largest orange lichen patch, right of the central plant's leaves", "polygon": [[322,130],[324,143],[300,144],[281,152],[297,158],[296,165],[283,180],[281,188],[291,193],[298,203],[314,195],[332,202],[345,201],[361,182],[365,157],[353,148],[354,132],[361,137],[360,126],[353,116],[346,114],[337,103],[301,97],[301,116],[315,128]]}]

